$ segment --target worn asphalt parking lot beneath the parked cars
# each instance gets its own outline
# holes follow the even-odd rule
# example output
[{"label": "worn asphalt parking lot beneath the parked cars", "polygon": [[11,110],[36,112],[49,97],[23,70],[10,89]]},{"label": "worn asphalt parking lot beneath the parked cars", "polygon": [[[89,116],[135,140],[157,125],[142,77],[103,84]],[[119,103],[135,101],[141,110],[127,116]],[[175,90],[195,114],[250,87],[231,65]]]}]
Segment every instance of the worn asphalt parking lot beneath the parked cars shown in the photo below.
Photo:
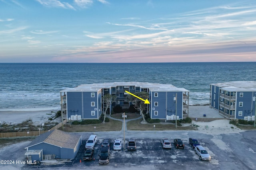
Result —
[{"label": "worn asphalt parking lot beneath the parked cars", "polygon": [[[244,131],[242,133],[212,135],[199,133],[198,131],[128,131],[127,139],[136,139],[137,150],[113,150],[114,139],[123,139],[123,133],[118,132],[97,132],[97,144],[95,145],[95,160],[82,160],[86,140],[92,133],[77,133],[82,135],[82,146],[72,162],[52,166],[38,166],[40,169],[82,169],[104,170],[255,170],[256,158],[256,131]],[[116,138],[114,138],[116,137]],[[212,157],[210,161],[200,160],[190,147],[189,137],[196,138],[200,144],[208,150]],[[106,165],[98,164],[98,153],[102,140],[112,139],[110,150],[110,162]],[[162,149],[161,139],[168,138],[172,142],[172,149]],[[184,149],[176,149],[173,139],[182,139]],[[81,160],[81,163],[80,163]],[[33,168],[25,166],[23,169]]]}]

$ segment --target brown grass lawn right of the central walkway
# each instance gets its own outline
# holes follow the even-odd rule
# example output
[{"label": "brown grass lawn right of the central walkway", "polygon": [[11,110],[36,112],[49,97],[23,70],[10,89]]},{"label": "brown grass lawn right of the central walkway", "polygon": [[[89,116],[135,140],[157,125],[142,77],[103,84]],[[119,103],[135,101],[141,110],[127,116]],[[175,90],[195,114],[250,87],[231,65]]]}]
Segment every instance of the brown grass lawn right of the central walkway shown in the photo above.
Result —
[{"label": "brown grass lawn right of the central walkway", "polygon": [[133,120],[127,122],[127,129],[128,130],[142,130],[142,131],[154,131],[154,125],[156,131],[163,131],[163,130],[197,130],[196,127],[190,126],[177,126],[177,129],[175,128],[175,124],[161,124],[161,123],[147,123],[147,124],[141,124],[141,119]]}]

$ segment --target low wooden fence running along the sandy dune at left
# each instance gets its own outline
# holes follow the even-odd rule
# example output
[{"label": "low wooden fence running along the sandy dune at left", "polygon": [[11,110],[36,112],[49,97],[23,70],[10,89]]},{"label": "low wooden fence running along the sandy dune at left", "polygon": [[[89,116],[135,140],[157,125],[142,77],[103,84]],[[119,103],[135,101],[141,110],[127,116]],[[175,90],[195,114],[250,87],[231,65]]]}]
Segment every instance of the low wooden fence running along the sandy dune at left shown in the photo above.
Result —
[{"label": "low wooden fence running along the sandy dune at left", "polygon": [[[67,123],[67,119],[63,121],[63,124]],[[58,125],[52,127],[48,131],[52,131],[54,129],[59,129],[62,127],[62,122]],[[28,131],[28,132],[7,132],[7,133],[0,133],[0,138],[8,138],[8,137],[30,137],[30,136],[39,136],[40,134],[46,133],[48,131]]]}]

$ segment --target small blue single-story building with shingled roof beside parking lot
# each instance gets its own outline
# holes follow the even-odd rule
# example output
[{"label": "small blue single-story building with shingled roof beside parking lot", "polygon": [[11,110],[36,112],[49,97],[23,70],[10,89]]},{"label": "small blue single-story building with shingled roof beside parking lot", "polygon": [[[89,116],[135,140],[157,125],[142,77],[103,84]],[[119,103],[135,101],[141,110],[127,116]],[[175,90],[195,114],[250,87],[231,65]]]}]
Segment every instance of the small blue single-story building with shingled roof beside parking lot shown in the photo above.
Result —
[{"label": "small blue single-story building with shingled roof beside parking lot", "polygon": [[25,149],[28,160],[42,161],[54,158],[74,159],[82,136],[55,129],[36,137]]}]

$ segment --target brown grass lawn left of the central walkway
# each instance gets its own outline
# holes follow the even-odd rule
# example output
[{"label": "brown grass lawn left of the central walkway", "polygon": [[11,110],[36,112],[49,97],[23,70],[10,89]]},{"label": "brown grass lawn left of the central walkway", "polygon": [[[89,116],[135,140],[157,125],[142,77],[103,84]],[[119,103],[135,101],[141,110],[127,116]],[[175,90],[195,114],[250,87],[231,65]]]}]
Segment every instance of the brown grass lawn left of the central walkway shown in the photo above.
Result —
[{"label": "brown grass lawn left of the central walkway", "polygon": [[[70,127],[71,125],[71,127]],[[96,127],[94,129],[94,127]],[[72,125],[67,123],[64,125],[65,132],[98,132],[98,131],[120,131],[122,129],[122,122],[110,119],[106,123],[90,124],[90,125]],[[59,128],[62,130],[62,127]]]}]

